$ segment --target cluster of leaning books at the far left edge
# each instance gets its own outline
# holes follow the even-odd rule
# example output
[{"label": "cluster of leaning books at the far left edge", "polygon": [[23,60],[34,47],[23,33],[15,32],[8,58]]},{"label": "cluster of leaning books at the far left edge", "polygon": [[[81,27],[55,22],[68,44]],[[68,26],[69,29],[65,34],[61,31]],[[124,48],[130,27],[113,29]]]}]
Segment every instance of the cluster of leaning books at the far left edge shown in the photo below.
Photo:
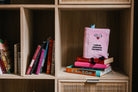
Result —
[{"label": "cluster of leaning books at the far left edge", "polygon": [[8,52],[7,41],[0,39],[0,74],[11,72],[11,59]]}]

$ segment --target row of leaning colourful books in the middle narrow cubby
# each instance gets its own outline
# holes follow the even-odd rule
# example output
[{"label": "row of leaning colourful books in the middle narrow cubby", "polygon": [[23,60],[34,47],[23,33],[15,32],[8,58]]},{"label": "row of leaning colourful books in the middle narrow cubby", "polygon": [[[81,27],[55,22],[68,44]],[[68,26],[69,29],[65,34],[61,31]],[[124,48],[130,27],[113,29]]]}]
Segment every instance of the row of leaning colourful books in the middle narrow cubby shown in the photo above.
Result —
[{"label": "row of leaning colourful books in the middle narrow cubby", "polygon": [[55,71],[55,42],[53,39],[44,41],[42,45],[38,45],[34,53],[32,61],[27,69],[26,74],[46,74],[54,75]]}]

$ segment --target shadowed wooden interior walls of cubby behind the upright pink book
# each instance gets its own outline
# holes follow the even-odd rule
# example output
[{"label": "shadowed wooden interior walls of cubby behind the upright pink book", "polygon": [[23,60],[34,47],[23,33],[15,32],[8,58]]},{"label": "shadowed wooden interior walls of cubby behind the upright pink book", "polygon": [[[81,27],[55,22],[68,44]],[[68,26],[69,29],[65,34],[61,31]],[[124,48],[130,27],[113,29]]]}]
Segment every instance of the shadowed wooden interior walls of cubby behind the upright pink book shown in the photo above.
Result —
[{"label": "shadowed wooden interior walls of cubby behind the upright pink book", "polygon": [[[72,65],[83,56],[84,28],[109,28],[109,56],[112,67],[129,74],[130,64],[130,9],[60,10],[61,67]],[[127,67],[127,68],[126,68]]]}]

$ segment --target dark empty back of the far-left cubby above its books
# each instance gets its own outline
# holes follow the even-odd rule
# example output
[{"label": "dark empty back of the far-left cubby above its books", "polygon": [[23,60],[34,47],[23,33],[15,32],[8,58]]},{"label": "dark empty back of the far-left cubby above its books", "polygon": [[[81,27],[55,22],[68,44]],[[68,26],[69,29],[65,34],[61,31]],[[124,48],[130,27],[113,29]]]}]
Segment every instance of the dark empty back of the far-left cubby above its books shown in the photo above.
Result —
[{"label": "dark empty back of the far-left cubby above its books", "polygon": [[20,43],[20,10],[0,10],[0,38],[7,41],[11,56],[12,72],[14,44]]}]

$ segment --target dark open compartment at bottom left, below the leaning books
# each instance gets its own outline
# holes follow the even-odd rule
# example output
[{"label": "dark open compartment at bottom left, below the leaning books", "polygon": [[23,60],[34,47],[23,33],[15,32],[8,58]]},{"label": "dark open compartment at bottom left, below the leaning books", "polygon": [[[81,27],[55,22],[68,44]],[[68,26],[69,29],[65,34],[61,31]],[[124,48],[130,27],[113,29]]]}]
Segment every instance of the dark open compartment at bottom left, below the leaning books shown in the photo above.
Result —
[{"label": "dark open compartment at bottom left, below the leaning books", "polygon": [[0,80],[0,92],[54,92],[54,80]]}]

